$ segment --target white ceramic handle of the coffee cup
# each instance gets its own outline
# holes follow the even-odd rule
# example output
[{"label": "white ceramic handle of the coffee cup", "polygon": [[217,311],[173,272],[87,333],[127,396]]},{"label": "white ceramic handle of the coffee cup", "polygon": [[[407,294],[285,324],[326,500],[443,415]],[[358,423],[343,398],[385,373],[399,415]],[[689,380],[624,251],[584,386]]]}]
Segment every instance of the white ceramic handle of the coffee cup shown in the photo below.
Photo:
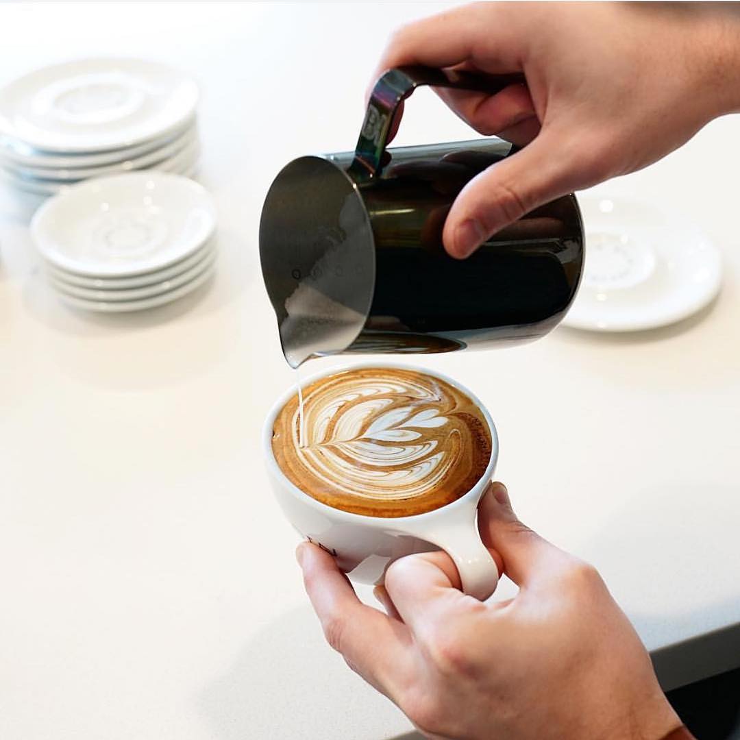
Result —
[{"label": "white ceramic handle of the coffee cup", "polygon": [[422,536],[452,558],[464,593],[483,601],[496,591],[499,569],[480,537],[477,507],[463,509],[456,518],[445,519],[443,527]]}]

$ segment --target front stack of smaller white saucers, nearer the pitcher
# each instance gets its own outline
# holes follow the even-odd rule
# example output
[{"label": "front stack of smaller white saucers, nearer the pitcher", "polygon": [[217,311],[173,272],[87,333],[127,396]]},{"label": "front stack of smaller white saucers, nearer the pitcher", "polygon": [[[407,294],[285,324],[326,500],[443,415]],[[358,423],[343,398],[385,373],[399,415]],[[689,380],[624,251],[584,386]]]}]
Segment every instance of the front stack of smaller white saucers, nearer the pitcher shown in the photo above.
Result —
[{"label": "front stack of smaller white saucers, nearer the pitcher", "polygon": [[78,309],[151,309],[212,275],[215,207],[181,175],[129,172],[96,178],[50,198],[31,235],[59,297]]}]

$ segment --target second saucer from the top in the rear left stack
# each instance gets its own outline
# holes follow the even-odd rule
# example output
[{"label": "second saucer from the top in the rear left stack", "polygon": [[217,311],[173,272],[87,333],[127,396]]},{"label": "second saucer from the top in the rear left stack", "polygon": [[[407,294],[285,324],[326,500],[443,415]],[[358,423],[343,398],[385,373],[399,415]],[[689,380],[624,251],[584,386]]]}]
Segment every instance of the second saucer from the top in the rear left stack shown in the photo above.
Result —
[{"label": "second saucer from the top in the rear left stack", "polygon": [[34,149],[21,141],[8,136],[0,136],[0,161],[10,163],[14,166],[24,167],[48,167],[56,169],[75,167],[97,167],[104,164],[115,164],[148,154],[155,149],[160,149],[166,144],[171,144],[178,138],[184,137],[189,131],[195,129],[195,116],[186,121],[184,126],[177,130],[168,132],[157,138],[144,141],[143,144],[135,144],[133,147],[119,147],[105,152],[93,154],[59,154],[57,152],[44,152]]}]

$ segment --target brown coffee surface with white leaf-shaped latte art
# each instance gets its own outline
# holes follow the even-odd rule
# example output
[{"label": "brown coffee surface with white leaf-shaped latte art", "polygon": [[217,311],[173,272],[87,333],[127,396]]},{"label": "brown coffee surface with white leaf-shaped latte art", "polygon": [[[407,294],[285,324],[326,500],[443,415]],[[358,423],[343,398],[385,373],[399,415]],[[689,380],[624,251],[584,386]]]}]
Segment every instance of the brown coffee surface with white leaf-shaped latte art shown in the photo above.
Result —
[{"label": "brown coffee surface with white leaf-shaped latte art", "polygon": [[303,388],[280,409],[272,451],[303,493],[369,517],[406,517],[468,493],[491,460],[491,430],[460,389],[414,370],[360,368]]}]

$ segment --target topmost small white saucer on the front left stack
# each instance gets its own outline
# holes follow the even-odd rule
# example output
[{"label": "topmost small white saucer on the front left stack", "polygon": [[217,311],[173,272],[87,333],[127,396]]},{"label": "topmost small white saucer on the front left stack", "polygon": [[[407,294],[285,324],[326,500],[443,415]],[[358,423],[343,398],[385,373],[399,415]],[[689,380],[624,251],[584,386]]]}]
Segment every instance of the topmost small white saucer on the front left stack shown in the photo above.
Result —
[{"label": "topmost small white saucer on the front left stack", "polygon": [[89,277],[130,277],[168,267],[214,232],[215,206],[198,183],[164,172],[127,172],[67,187],[34,214],[31,235],[54,266]]}]

